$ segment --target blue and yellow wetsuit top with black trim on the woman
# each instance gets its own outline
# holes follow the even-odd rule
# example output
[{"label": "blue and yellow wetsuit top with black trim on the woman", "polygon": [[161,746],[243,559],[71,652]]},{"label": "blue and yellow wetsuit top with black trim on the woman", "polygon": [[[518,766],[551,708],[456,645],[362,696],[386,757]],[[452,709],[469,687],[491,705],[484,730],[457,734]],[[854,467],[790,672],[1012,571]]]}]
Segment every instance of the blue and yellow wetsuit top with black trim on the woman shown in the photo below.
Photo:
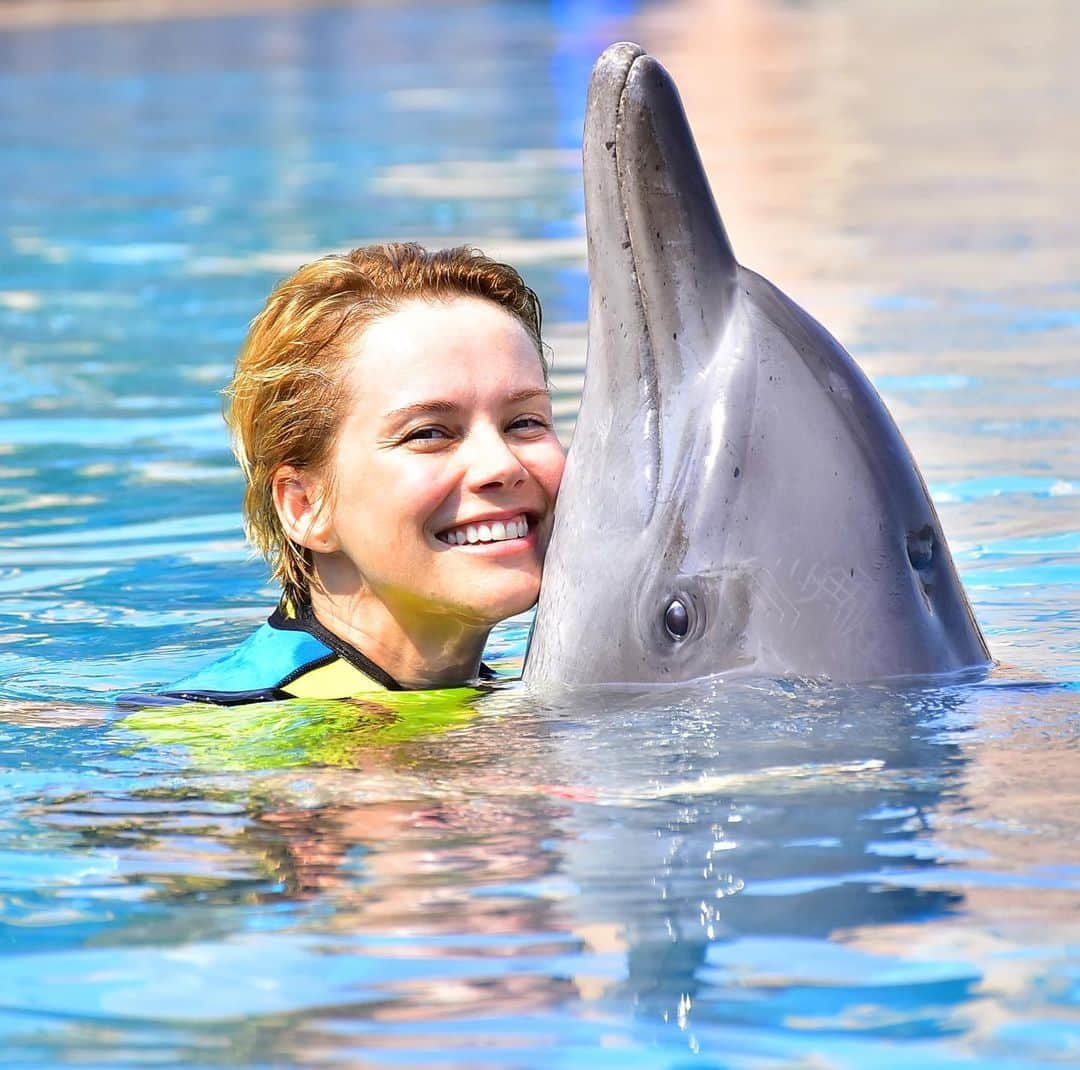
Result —
[{"label": "blue and yellow wetsuit top with black trim on the woman", "polygon": [[[481,679],[495,673],[482,664]],[[310,606],[288,601],[235,650],[148,694],[122,694],[122,706],[173,706],[207,702],[240,706],[281,699],[349,699],[405,690],[362,651],[328,632]]]}]

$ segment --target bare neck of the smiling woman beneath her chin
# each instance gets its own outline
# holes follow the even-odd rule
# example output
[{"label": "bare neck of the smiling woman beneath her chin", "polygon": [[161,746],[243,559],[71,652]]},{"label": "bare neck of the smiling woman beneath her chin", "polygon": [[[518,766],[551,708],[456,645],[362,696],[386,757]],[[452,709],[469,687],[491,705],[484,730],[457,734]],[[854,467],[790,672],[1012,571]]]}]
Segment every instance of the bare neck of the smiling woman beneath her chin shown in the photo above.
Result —
[{"label": "bare neck of the smiling woman beneath her chin", "polygon": [[395,614],[370,592],[311,591],[315,619],[407,690],[457,687],[475,679],[490,627],[456,618]]}]

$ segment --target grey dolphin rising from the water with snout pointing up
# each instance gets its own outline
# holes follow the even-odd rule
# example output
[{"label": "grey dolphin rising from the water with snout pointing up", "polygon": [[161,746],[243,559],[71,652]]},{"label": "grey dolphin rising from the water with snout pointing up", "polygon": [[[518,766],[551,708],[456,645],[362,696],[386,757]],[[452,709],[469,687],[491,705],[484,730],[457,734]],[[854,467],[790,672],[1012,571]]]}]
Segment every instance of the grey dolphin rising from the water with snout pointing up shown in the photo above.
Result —
[{"label": "grey dolphin rising from the water with snout pointing up", "polygon": [[526,682],[987,663],[896,425],[735,262],[678,91],[637,45],[594,68],[584,180],[585,384]]}]

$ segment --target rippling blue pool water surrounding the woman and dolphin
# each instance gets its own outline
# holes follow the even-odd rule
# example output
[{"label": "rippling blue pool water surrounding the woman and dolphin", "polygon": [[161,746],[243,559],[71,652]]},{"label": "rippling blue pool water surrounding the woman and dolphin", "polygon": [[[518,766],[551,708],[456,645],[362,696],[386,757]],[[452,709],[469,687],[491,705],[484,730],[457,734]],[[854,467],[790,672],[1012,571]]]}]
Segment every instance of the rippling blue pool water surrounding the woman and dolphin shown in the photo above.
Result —
[{"label": "rippling blue pool water surrounding the woman and dolphin", "polygon": [[[0,1061],[1080,1059],[1075,6],[232,6],[0,8]],[[294,266],[505,256],[569,433],[620,38],[881,390],[999,667],[118,714],[273,600],[216,392]]]}]

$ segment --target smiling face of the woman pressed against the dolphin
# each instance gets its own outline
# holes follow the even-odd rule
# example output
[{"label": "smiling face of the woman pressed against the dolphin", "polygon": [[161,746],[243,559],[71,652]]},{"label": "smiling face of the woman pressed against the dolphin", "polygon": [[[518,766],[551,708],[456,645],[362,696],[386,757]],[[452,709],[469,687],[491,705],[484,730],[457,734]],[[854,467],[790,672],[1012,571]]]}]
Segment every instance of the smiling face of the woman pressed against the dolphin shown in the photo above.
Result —
[{"label": "smiling face of the woman pressed against the dolphin", "polygon": [[536,347],[481,298],[408,301],[349,347],[324,577],[401,623],[490,625],[540,590],[563,449]]}]

